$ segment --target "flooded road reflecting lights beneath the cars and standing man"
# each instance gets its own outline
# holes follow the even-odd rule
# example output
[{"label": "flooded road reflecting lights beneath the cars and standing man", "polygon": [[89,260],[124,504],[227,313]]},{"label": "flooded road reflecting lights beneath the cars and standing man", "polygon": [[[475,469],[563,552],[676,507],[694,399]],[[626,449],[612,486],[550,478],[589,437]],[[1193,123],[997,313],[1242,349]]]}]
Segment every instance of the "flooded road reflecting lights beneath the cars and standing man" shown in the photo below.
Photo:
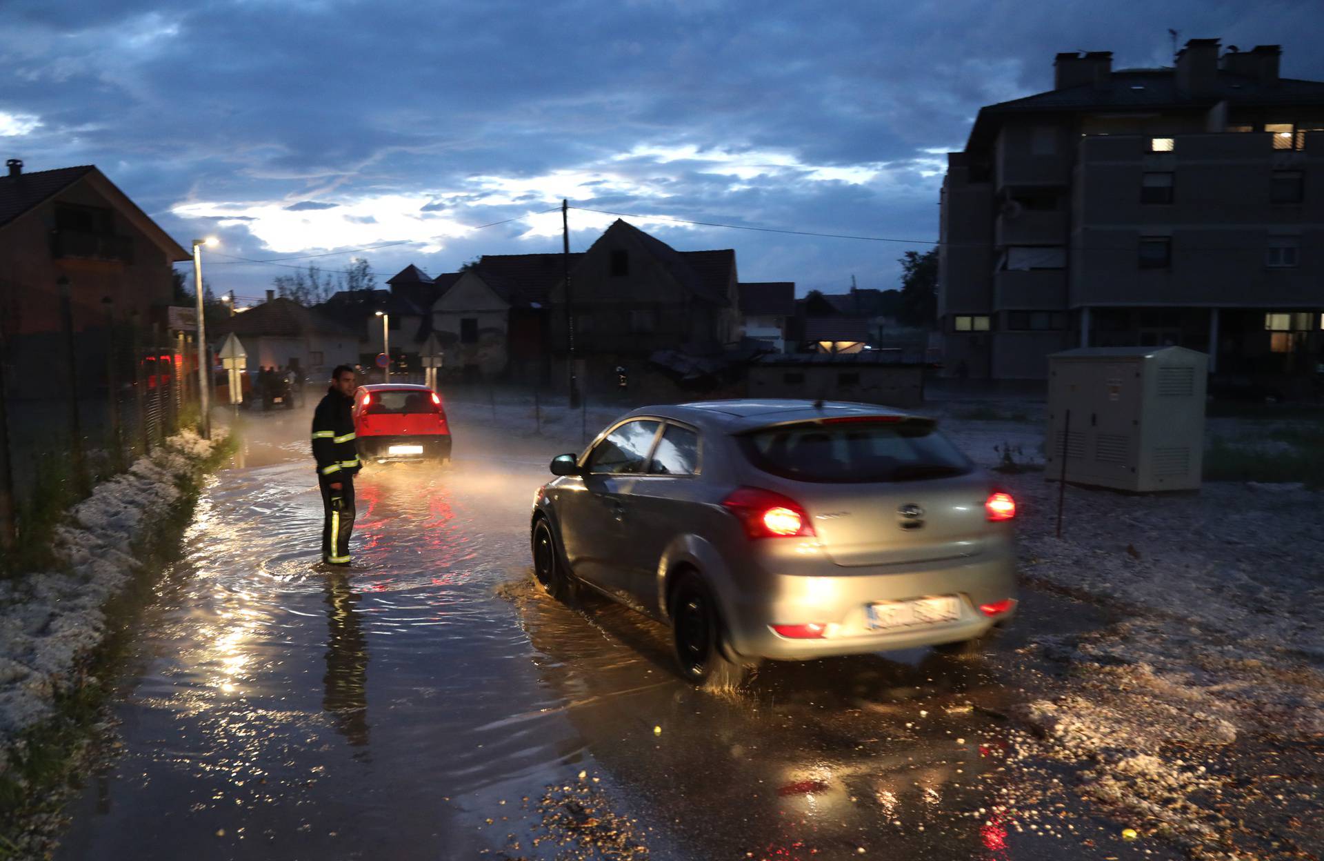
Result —
[{"label": "flooded road reflecting lights beneath the cars and standing man", "polygon": [[[542,597],[530,505],[575,446],[451,413],[453,468],[360,476],[347,575],[314,567],[306,417],[258,417],[136,625],[58,858],[1166,857],[1017,755],[997,661],[776,664],[715,695],[661,627]],[[1026,599],[1004,658],[1092,624]]]}]

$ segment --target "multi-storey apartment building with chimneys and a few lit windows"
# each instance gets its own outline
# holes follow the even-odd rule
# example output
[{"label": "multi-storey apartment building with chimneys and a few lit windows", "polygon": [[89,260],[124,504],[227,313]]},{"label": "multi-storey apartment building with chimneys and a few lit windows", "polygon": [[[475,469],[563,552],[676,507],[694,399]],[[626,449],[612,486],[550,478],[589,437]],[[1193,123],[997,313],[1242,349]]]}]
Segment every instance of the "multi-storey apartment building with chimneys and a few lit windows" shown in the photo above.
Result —
[{"label": "multi-storey apartment building with chimneys and a few lit windows", "polygon": [[1174,68],[1062,53],[948,155],[944,370],[1035,380],[1075,346],[1176,344],[1301,389],[1324,332],[1324,82],[1190,40]]}]

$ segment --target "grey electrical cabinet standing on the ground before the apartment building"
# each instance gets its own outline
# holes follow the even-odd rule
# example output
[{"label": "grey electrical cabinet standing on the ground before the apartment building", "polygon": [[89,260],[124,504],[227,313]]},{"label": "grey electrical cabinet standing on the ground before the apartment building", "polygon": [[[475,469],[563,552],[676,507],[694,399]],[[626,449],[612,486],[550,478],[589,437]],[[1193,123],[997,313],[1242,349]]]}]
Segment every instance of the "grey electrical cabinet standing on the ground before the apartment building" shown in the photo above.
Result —
[{"label": "grey electrical cabinet standing on the ground before the apartment building", "polygon": [[[1209,356],[1082,347],[1049,356],[1047,478],[1117,490],[1200,487]],[[1070,411],[1070,428],[1067,427]]]}]

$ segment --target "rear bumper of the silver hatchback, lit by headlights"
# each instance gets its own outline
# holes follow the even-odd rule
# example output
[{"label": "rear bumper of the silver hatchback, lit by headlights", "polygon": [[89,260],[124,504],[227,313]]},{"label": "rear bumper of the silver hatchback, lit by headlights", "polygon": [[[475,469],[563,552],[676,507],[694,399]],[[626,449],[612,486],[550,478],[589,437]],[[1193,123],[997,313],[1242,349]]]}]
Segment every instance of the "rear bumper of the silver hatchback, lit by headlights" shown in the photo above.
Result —
[{"label": "rear bumper of the silver hatchback, lit by headlights", "polygon": [[[839,572],[839,574],[838,574]],[[726,596],[727,634],[745,657],[805,660],[891,649],[961,642],[986,633],[1014,613],[985,616],[980,604],[1016,597],[1016,558],[1010,543],[973,559],[895,568],[835,568],[831,574],[764,574],[765,588]],[[873,631],[867,607],[874,601],[939,595],[960,597],[960,616],[951,621]],[[813,640],[782,637],[772,625],[825,624]]]}]

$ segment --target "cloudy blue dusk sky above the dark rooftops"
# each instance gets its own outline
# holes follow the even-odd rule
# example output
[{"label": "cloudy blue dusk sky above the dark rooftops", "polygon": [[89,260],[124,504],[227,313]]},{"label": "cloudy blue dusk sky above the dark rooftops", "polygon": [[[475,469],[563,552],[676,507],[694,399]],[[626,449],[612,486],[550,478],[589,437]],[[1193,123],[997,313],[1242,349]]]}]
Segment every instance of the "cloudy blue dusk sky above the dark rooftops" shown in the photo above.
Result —
[{"label": "cloudy blue dusk sky above the dark rooftops", "polygon": [[[220,236],[208,281],[241,297],[290,269],[233,257],[406,242],[360,253],[384,279],[559,252],[560,215],[530,213],[563,197],[932,241],[981,105],[1051,89],[1059,50],[1170,65],[1168,28],[1280,44],[1283,77],[1324,79],[1317,0],[3,0],[0,151],[97,164],[180,242]],[[572,211],[572,250],[612,220]],[[928,248],[628,220],[801,294],[898,286]]]}]

